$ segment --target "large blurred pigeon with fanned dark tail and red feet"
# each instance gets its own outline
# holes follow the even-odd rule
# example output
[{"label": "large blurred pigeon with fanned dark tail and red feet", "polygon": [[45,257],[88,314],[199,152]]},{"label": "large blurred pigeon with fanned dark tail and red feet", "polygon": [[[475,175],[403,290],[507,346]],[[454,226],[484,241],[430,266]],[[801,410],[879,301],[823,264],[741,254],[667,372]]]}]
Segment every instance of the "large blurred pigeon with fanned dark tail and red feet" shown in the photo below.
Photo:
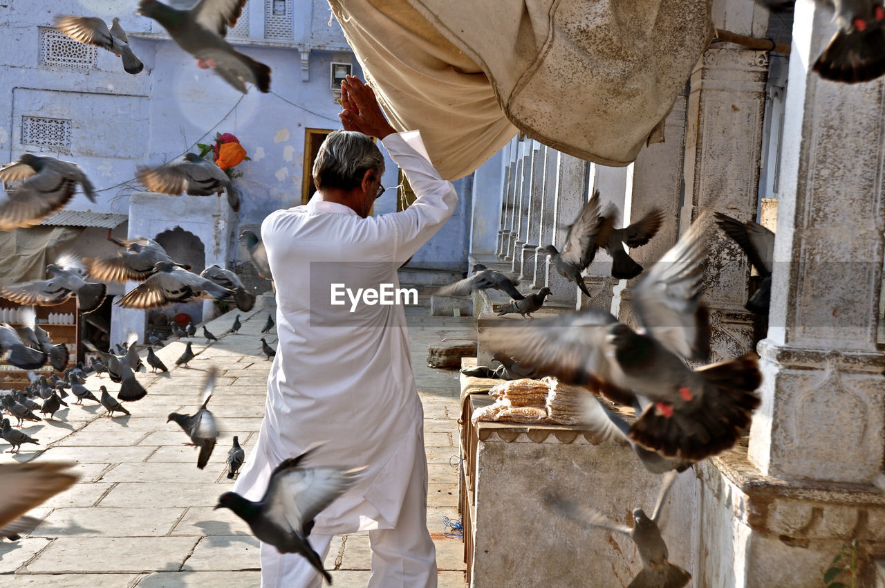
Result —
[{"label": "large blurred pigeon with fanned dark tail and red feet", "polygon": [[[646,273],[633,303],[644,329],[591,308],[495,329],[489,347],[541,374],[585,385],[643,414],[629,430],[637,444],[670,458],[703,460],[735,444],[759,404],[756,360],[744,356],[695,370],[685,361],[710,352],[710,325],[700,298],[704,221]],[[519,323],[522,324],[522,323]]]}]

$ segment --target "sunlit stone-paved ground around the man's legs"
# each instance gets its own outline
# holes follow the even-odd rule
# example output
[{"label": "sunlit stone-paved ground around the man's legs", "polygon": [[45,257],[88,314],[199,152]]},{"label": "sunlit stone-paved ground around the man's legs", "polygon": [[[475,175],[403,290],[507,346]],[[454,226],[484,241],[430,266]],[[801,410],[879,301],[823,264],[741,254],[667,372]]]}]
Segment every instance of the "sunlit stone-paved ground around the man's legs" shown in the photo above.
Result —
[{"label": "sunlit stone-paved ground around the man's legs", "polygon": [[[212,507],[232,484],[225,471],[232,437],[240,437],[247,459],[258,437],[271,365],[258,337],[272,310],[242,313],[238,335],[222,336],[234,313],[208,323],[219,341],[204,345],[203,337],[194,337],[198,355],[189,368],[174,367],[183,343],[160,350],[171,375],[138,375],[148,396],[127,404],[131,416],[101,418],[104,409],[87,402],[59,411],[56,421],[23,429],[40,440],[39,449],[26,445],[19,454],[3,453],[0,462],[71,461],[81,480],[31,513],[44,517],[31,536],[0,541],[0,586],[258,586],[258,541],[231,511]],[[443,535],[443,516],[458,517],[457,470],[450,467],[450,457],[458,453],[457,372],[430,369],[426,359],[427,344],[469,336],[473,327],[469,317],[433,317],[424,308],[407,313],[412,365],[425,410],[427,527],[436,544],[440,588],[463,588],[463,544]],[[275,332],[268,340],[273,347]],[[196,410],[196,393],[209,366],[219,368],[211,408],[222,432],[201,471],[196,450],[181,445],[186,437],[174,422],[166,423],[166,415]],[[91,376],[86,385],[97,392],[102,383],[119,390],[106,376]],[[0,445],[0,450],[7,448]],[[365,586],[367,534],[335,538],[326,566],[335,586]]]}]

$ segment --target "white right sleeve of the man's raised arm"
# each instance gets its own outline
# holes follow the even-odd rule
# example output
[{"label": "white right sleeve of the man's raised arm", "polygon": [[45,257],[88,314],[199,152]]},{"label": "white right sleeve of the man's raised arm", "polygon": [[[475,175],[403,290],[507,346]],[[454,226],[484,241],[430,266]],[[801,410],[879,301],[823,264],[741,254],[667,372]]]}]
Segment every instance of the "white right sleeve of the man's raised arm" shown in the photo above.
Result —
[{"label": "white right sleeve of the man's raised arm", "polygon": [[403,212],[381,217],[393,223],[396,232],[394,259],[403,262],[449,220],[458,205],[458,194],[451,182],[443,180],[427,159],[419,131],[394,133],[384,137],[381,143],[404,171],[418,197]]}]

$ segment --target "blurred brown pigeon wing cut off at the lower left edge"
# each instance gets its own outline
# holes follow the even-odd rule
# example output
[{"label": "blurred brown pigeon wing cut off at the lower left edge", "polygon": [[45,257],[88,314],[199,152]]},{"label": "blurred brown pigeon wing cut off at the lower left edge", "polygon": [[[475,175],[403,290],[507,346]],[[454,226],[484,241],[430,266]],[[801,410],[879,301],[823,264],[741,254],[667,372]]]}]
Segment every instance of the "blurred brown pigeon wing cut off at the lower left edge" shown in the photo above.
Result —
[{"label": "blurred brown pigeon wing cut off at the lower left edge", "polygon": [[72,466],[52,461],[0,465],[0,536],[15,540],[34,529],[40,520],[25,513],[73,485],[80,476],[65,471]]}]

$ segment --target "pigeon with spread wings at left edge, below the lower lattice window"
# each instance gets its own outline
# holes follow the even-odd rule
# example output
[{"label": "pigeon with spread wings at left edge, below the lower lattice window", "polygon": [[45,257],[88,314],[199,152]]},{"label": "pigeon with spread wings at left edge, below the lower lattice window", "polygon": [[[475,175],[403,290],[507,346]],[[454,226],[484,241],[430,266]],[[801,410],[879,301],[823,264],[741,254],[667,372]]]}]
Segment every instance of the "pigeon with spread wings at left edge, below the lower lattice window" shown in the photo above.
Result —
[{"label": "pigeon with spread wings at left edge, below the lower lattice window", "polygon": [[96,195],[92,182],[80,166],[47,155],[25,153],[18,161],[0,168],[0,182],[13,182],[0,202],[0,231],[39,224],[67,204],[77,184],[92,202]]}]

